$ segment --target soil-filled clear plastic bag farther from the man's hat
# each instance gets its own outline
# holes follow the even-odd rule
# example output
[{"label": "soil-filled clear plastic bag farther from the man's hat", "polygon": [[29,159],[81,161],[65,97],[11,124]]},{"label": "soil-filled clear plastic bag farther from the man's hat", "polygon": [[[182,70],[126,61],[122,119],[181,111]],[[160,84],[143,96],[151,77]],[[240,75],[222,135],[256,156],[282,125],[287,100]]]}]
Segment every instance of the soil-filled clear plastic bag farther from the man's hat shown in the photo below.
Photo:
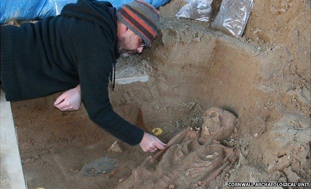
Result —
[{"label": "soil-filled clear plastic bag farther from the man's hat", "polygon": [[211,27],[234,37],[241,37],[253,8],[253,0],[222,0]]}]

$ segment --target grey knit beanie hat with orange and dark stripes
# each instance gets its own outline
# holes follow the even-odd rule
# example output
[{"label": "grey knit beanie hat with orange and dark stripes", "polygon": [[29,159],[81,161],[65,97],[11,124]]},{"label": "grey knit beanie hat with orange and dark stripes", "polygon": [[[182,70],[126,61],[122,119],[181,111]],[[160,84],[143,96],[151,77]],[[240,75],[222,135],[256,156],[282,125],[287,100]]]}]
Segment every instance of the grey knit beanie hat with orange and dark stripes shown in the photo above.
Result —
[{"label": "grey knit beanie hat with orange and dark stripes", "polygon": [[153,5],[143,0],[134,0],[123,4],[117,11],[117,17],[150,46],[159,26],[159,15]]}]

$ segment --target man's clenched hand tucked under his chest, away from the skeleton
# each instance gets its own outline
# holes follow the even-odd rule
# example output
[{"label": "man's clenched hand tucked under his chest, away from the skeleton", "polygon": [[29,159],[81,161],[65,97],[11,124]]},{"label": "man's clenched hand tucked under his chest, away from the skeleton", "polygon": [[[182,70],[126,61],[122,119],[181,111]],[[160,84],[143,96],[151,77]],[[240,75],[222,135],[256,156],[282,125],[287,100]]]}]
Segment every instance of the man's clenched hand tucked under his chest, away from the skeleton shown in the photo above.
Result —
[{"label": "man's clenched hand tucked under his chest, away from the skeleton", "polygon": [[80,85],[76,88],[66,91],[54,102],[54,106],[61,111],[78,110],[81,105],[81,90]]}]

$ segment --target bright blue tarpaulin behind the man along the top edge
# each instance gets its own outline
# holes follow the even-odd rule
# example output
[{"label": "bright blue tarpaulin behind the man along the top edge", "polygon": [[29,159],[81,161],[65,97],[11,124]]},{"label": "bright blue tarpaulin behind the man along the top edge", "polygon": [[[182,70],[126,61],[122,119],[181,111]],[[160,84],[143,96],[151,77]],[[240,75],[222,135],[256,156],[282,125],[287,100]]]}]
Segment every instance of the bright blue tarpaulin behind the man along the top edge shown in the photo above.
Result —
[{"label": "bright blue tarpaulin behind the man along the top edge", "polygon": [[[104,1],[104,0],[100,0]],[[106,0],[117,9],[122,4],[133,0]],[[169,0],[145,0],[155,8],[166,4]],[[37,20],[48,16],[58,15],[61,9],[68,3],[75,3],[77,0],[0,0],[0,23],[9,20]]]}]

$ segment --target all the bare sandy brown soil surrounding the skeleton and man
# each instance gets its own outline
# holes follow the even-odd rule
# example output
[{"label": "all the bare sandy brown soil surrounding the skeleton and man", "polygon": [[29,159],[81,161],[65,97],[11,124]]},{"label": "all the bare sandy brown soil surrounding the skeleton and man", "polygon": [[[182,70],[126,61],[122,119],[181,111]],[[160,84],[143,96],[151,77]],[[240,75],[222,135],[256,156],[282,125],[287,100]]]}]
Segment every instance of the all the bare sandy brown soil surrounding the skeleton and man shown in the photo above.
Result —
[{"label": "all the bare sandy brown soil surrounding the skeleton and man", "polygon": [[[172,0],[161,7],[152,47],[119,61],[143,63],[150,79],[117,85],[110,93],[115,110],[149,131],[161,128],[164,142],[187,126],[200,127],[209,107],[235,114],[233,135],[221,144],[238,149],[239,160],[210,188],[229,181],[310,182],[310,0],[255,0],[239,39],[209,23],[176,19],[183,4]],[[55,109],[56,97],[12,103],[29,188],[114,188],[148,157],[122,142],[122,153],[108,151],[116,138],[94,125],[83,107]],[[118,159],[119,168],[81,175],[84,164],[103,156]]]}]

